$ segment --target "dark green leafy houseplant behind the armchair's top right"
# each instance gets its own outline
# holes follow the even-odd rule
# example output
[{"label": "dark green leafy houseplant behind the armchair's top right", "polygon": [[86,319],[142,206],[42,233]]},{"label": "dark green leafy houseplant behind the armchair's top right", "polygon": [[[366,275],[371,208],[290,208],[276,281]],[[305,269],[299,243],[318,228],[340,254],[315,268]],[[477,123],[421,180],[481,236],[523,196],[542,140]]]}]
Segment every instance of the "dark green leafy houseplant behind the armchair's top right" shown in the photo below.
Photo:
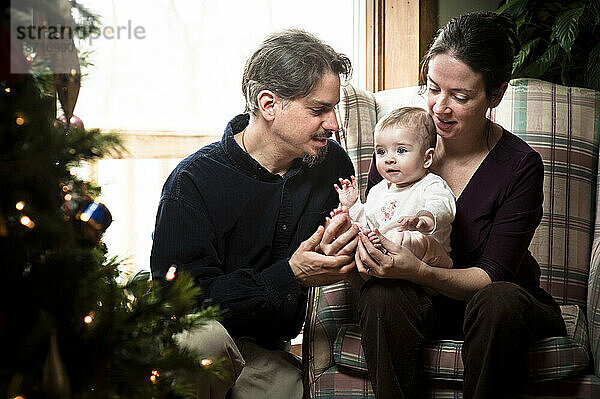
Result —
[{"label": "dark green leafy houseplant behind the armchair's top right", "polygon": [[600,90],[600,0],[504,0],[521,41],[514,77]]}]

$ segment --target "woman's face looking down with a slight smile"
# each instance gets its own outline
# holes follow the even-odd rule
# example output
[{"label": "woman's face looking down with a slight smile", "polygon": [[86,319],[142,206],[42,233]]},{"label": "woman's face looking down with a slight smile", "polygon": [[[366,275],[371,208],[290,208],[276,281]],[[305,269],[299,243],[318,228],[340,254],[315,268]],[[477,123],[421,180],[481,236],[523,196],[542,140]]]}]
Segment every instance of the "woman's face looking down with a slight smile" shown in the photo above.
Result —
[{"label": "woman's face looking down with a slight smile", "polygon": [[447,54],[429,61],[427,109],[442,138],[480,138],[486,128],[486,111],[492,105],[480,73]]}]

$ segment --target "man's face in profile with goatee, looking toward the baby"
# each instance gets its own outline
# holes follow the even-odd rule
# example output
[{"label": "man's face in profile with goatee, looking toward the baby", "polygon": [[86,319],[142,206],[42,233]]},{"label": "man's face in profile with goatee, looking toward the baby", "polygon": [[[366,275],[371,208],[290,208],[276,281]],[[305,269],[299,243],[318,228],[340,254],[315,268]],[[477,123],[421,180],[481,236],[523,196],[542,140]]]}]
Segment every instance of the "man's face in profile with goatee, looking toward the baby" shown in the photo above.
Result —
[{"label": "man's face in profile with goatee, looking toward the baby", "polygon": [[327,152],[327,138],[339,129],[335,105],[340,101],[340,78],[327,73],[306,97],[276,108],[273,132],[280,139],[280,156],[302,158],[312,165]]}]

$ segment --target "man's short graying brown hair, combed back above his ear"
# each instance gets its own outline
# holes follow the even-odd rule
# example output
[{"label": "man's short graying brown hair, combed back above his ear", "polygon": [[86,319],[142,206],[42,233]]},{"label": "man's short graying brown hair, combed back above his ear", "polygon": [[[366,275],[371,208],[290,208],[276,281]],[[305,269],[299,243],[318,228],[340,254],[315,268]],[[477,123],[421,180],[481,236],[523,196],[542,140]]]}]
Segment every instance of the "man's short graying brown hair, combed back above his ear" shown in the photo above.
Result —
[{"label": "man's short graying brown hair, combed back above his ear", "polygon": [[262,90],[272,91],[283,101],[306,97],[329,72],[348,80],[352,64],[344,54],[303,30],[273,33],[246,61],[242,78],[245,112],[256,115]]}]

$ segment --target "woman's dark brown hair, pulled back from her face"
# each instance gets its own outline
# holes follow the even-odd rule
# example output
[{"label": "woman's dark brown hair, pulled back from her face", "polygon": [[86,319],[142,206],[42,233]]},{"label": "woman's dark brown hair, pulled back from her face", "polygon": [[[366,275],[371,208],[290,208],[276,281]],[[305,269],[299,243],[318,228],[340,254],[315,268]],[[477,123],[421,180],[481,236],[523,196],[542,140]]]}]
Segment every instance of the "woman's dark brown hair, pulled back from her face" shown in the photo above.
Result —
[{"label": "woman's dark brown hair, pulled back from her face", "polygon": [[502,83],[510,80],[520,48],[517,27],[508,14],[461,15],[438,30],[421,62],[419,83],[427,84],[429,61],[436,55],[448,54],[483,76],[486,95],[491,99]]}]

